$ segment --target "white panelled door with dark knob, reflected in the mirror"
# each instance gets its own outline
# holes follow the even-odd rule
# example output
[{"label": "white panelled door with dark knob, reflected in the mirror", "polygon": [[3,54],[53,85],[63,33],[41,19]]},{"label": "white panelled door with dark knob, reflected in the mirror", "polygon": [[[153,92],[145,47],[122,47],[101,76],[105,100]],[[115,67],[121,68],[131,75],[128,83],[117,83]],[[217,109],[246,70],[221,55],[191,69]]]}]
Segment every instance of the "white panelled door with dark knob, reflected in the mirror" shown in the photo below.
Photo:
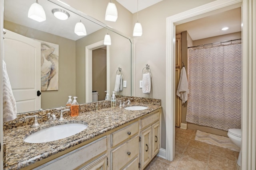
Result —
[{"label": "white panelled door with dark knob, reflected in the mirror", "polygon": [[16,100],[17,113],[41,108],[41,43],[6,30],[4,61]]}]

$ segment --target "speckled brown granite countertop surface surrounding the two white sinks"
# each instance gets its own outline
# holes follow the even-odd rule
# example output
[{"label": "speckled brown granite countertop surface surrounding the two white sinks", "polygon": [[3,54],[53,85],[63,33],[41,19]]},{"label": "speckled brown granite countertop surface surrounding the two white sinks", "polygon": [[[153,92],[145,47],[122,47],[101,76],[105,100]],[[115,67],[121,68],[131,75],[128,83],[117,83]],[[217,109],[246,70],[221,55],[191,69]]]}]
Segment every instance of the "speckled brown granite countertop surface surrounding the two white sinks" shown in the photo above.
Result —
[{"label": "speckled brown granite countertop surface surrounding the two white sinks", "polygon": [[[64,114],[64,121],[42,122],[39,127],[32,128],[26,125],[6,129],[4,130],[4,143],[6,143],[4,170],[24,168],[161,108],[160,105],[154,104],[141,105],[132,103],[130,106],[134,105],[146,105],[148,109],[132,111],[119,106],[115,108],[108,107],[80,113],[77,117]],[[57,141],[47,143],[24,142],[24,138],[29,134],[56,124],[65,123],[88,123],[88,127],[76,135]]]}]

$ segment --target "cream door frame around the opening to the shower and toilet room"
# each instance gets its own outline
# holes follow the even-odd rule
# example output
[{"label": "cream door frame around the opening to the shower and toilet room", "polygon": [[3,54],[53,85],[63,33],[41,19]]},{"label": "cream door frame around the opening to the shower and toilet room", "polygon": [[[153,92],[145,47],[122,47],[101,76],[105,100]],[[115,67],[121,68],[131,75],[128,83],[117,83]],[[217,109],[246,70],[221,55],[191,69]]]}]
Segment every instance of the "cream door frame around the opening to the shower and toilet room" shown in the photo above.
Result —
[{"label": "cream door frame around the opening to the shower and toilet room", "polygon": [[[175,155],[175,25],[216,12],[241,7],[242,10],[242,166],[255,169],[256,158],[256,43],[254,0],[216,0],[166,18],[166,159]],[[171,85],[171,86],[170,86]],[[170,122],[170,123],[168,123]]]}]

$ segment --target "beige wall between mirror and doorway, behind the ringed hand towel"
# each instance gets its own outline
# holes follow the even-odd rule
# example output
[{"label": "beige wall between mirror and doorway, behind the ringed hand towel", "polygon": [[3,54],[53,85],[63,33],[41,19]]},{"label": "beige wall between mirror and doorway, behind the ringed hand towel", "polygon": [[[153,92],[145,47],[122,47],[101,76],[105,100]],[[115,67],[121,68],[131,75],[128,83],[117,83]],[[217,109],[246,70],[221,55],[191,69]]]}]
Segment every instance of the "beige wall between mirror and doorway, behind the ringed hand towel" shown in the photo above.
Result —
[{"label": "beige wall between mirror and doorway, behind the ringed hand towel", "polygon": [[[163,0],[139,12],[139,22],[142,24],[142,37],[134,38],[135,44],[135,96],[145,96],[161,99],[163,107],[161,147],[166,143],[166,18],[214,0]],[[134,14],[133,25],[137,20]],[[149,64],[152,73],[152,90],[150,94],[143,94],[139,88],[139,74],[145,64]],[[138,73],[138,74],[137,74]]]}]

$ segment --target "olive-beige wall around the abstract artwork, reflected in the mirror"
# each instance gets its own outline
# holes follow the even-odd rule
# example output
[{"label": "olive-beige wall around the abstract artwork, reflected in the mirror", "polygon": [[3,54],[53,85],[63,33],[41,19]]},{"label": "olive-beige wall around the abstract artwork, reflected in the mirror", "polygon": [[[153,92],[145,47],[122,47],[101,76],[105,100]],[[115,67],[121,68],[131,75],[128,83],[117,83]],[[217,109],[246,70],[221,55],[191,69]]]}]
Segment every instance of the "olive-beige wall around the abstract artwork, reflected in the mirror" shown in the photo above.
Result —
[{"label": "olive-beige wall around the abstract artwork, reflected in the mirror", "polygon": [[4,21],[4,28],[30,37],[59,45],[59,89],[41,95],[41,108],[66,106],[68,96],[76,94],[76,43],[73,40]]}]

